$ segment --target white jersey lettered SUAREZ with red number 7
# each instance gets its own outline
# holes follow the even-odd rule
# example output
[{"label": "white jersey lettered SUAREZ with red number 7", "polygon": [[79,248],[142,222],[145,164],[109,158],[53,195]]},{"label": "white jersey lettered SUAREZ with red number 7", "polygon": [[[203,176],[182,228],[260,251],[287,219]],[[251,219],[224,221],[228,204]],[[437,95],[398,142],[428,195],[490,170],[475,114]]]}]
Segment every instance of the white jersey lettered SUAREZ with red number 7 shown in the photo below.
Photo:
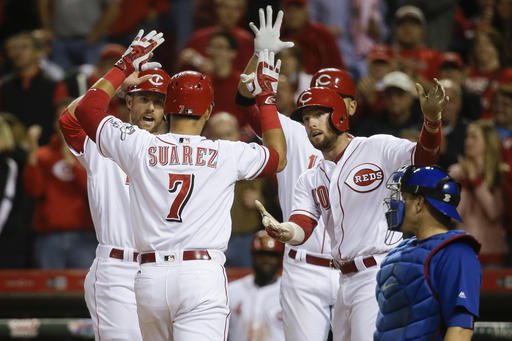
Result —
[{"label": "white jersey lettered SUAREZ with red number 7", "polygon": [[112,116],[100,123],[96,141],[130,177],[131,218],[141,252],[224,251],[234,184],[257,177],[269,160],[268,149],[255,143],[155,136]]}]

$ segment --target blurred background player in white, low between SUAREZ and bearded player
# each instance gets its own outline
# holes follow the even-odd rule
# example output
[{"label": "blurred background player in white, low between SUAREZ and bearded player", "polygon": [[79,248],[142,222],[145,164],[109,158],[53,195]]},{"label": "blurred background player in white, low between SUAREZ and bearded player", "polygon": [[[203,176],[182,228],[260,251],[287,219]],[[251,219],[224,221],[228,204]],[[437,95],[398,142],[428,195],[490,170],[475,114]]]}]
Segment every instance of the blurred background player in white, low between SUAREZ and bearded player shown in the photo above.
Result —
[{"label": "blurred background player in white, low between SUAREZ and bearded player", "polygon": [[279,304],[283,251],[283,243],[265,230],[255,233],[251,244],[253,274],[229,284],[230,341],[285,340]]}]

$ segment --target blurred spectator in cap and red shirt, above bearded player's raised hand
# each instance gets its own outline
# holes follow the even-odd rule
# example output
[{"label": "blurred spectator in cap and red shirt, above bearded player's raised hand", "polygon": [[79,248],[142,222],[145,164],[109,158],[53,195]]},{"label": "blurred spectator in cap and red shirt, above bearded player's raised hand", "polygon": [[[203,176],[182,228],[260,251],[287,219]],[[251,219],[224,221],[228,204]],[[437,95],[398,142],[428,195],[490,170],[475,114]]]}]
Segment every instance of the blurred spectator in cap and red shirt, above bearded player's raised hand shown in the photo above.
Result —
[{"label": "blurred spectator in cap and red shirt, above bearded player's raised hand", "polygon": [[402,6],[395,13],[393,43],[388,53],[413,80],[429,84],[437,74],[440,52],[425,46],[426,20],[421,9]]}]

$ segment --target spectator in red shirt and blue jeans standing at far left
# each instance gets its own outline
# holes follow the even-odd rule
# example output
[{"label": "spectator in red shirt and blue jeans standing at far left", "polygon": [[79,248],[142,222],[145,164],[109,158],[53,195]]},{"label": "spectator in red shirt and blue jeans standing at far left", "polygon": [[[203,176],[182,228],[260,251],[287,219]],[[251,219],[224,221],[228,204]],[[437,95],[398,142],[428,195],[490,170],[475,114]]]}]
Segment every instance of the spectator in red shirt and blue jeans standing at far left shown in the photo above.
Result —
[{"label": "spectator in red shirt and blue jeans standing at far left", "polygon": [[[63,102],[59,109],[70,102]],[[43,269],[88,268],[97,242],[87,200],[87,173],[60,131],[42,147],[38,146],[40,135],[40,127],[28,129],[29,155],[23,173],[25,191],[36,200],[35,263]]]}]

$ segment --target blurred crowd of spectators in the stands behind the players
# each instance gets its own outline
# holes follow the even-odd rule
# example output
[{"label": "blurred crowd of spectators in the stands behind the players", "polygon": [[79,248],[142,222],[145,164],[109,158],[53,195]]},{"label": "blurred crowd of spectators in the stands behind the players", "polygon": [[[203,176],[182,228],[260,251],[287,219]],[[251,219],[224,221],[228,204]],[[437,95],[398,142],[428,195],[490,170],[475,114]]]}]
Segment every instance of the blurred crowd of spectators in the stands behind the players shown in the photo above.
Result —
[{"label": "blurred crowd of spectators in the stands behind the players", "polygon": [[[482,242],[484,266],[510,265],[512,0],[0,0],[0,268],[92,263],[87,175],[56,118],[138,29],[164,32],[154,59],[168,73],[211,77],[207,136],[255,140],[234,97],[253,54],[248,23],[267,4],[285,11],[281,39],[295,42],[279,55],[285,115],[318,69],[346,68],[357,81],[351,133],[416,139],[414,84],[441,80],[450,102],[439,164],[462,185],[460,228]],[[109,111],[125,117],[123,98]],[[276,186],[237,184],[227,266],[250,266],[251,239],[262,228],[254,199],[279,217]]]}]

